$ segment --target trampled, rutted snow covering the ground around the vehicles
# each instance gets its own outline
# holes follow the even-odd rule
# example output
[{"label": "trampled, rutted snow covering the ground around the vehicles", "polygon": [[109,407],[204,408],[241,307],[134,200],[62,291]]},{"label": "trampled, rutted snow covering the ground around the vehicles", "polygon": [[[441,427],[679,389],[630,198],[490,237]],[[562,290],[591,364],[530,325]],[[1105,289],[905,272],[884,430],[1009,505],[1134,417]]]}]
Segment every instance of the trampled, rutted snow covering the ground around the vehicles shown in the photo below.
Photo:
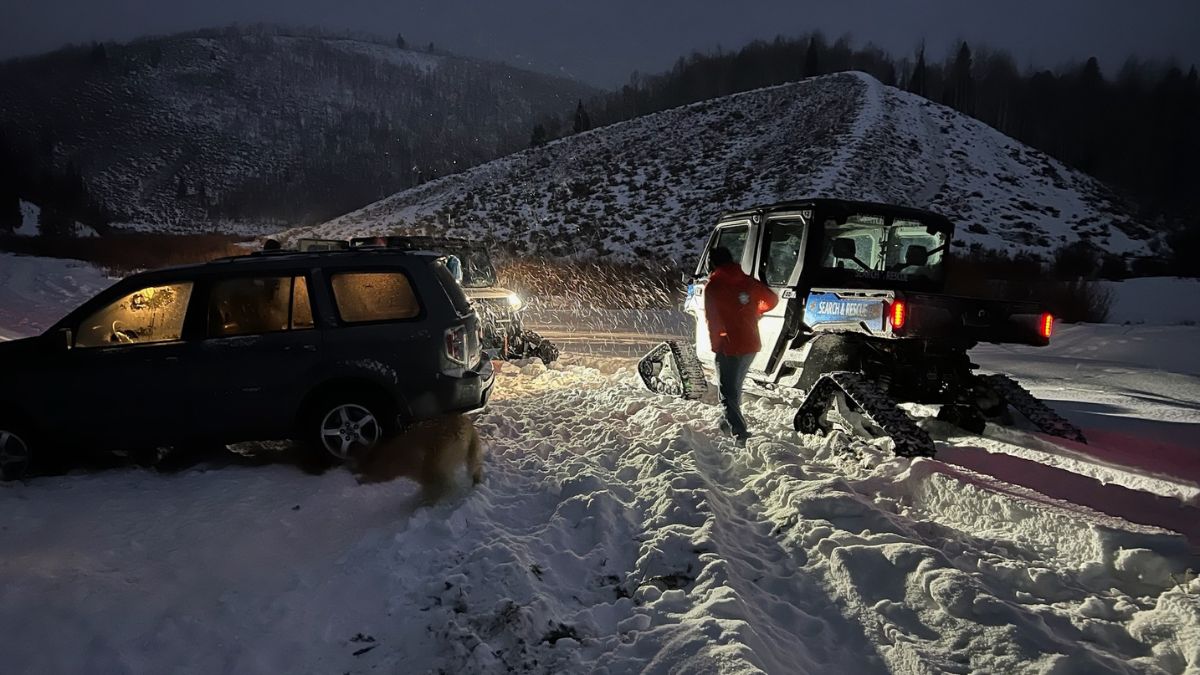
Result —
[{"label": "trampled, rutted snow covering the ground around the vehicles", "polygon": [[[0,333],[107,283],[0,256]],[[575,327],[629,322],[678,330]],[[751,396],[737,448],[712,398],[568,353],[500,366],[485,482],[433,507],[283,464],[4,484],[4,669],[1196,673],[1198,341],[1069,325],[973,353],[1087,446],[929,420],[937,459],[898,459]]]}]

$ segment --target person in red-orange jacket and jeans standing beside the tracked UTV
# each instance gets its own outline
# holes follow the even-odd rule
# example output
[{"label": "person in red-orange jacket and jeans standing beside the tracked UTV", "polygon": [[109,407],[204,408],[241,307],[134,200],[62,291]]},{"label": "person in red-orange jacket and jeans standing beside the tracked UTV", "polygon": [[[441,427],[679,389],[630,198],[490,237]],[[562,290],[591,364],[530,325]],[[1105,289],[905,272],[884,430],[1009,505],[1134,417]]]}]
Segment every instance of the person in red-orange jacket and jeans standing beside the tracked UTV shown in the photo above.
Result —
[{"label": "person in red-orange jacket and jeans standing beside the tracked UTV", "polygon": [[750,437],[742,416],[742,384],[755,354],[762,350],[758,318],[779,304],[770,287],[742,271],[728,249],[708,255],[708,285],[704,287],[704,317],[708,339],[716,356],[716,383],[725,406],[721,430],[739,443]]}]

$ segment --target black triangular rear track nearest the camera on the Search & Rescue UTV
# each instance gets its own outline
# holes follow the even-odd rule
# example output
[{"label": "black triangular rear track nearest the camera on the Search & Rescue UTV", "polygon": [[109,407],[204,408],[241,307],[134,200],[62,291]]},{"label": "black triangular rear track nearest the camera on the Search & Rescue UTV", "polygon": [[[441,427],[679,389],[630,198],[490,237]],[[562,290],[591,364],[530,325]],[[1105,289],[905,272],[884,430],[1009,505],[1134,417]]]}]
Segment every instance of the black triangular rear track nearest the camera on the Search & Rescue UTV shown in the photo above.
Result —
[{"label": "black triangular rear track nearest the camera on the Search & Rescue UTV", "polygon": [[821,417],[838,394],[858,408],[883,436],[895,443],[901,456],[934,456],[934,441],[882,388],[857,372],[827,372],[809,390],[796,411],[793,425],[802,434],[821,434]]}]

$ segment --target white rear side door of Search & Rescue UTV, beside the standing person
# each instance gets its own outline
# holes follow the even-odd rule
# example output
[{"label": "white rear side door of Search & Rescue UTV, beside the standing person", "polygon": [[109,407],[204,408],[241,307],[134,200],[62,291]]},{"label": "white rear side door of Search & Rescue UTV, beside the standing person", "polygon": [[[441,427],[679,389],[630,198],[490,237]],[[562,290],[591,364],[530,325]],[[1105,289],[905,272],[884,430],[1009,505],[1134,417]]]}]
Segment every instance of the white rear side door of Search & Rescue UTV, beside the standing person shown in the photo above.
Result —
[{"label": "white rear side door of Search & Rescue UTV, beside the standing person", "polygon": [[792,323],[788,319],[799,311],[796,286],[804,262],[810,220],[809,211],[778,214],[757,226],[762,231],[758,237],[762,244],[758,246],[755,276],[779,298],[775,309],[758,321],[762,351],[750,364],[750,372],[760,378],[769,380],[779,370],[779,357],[792,338],[787,334]]}]

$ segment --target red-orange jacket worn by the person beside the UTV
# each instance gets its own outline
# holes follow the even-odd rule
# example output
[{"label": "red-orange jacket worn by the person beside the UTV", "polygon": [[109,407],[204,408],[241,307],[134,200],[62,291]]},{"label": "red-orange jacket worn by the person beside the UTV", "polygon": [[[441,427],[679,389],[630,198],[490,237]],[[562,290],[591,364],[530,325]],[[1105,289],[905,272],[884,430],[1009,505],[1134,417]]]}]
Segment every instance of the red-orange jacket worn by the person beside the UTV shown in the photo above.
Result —
[{"label": "red-orange jacket worn by the person beside the UTV", "polygon": [[762,350],[758,317],[779,304],[770,287],[727,263],[708,277],[704,287],[704,317],[713,352],[736,357]]}]

